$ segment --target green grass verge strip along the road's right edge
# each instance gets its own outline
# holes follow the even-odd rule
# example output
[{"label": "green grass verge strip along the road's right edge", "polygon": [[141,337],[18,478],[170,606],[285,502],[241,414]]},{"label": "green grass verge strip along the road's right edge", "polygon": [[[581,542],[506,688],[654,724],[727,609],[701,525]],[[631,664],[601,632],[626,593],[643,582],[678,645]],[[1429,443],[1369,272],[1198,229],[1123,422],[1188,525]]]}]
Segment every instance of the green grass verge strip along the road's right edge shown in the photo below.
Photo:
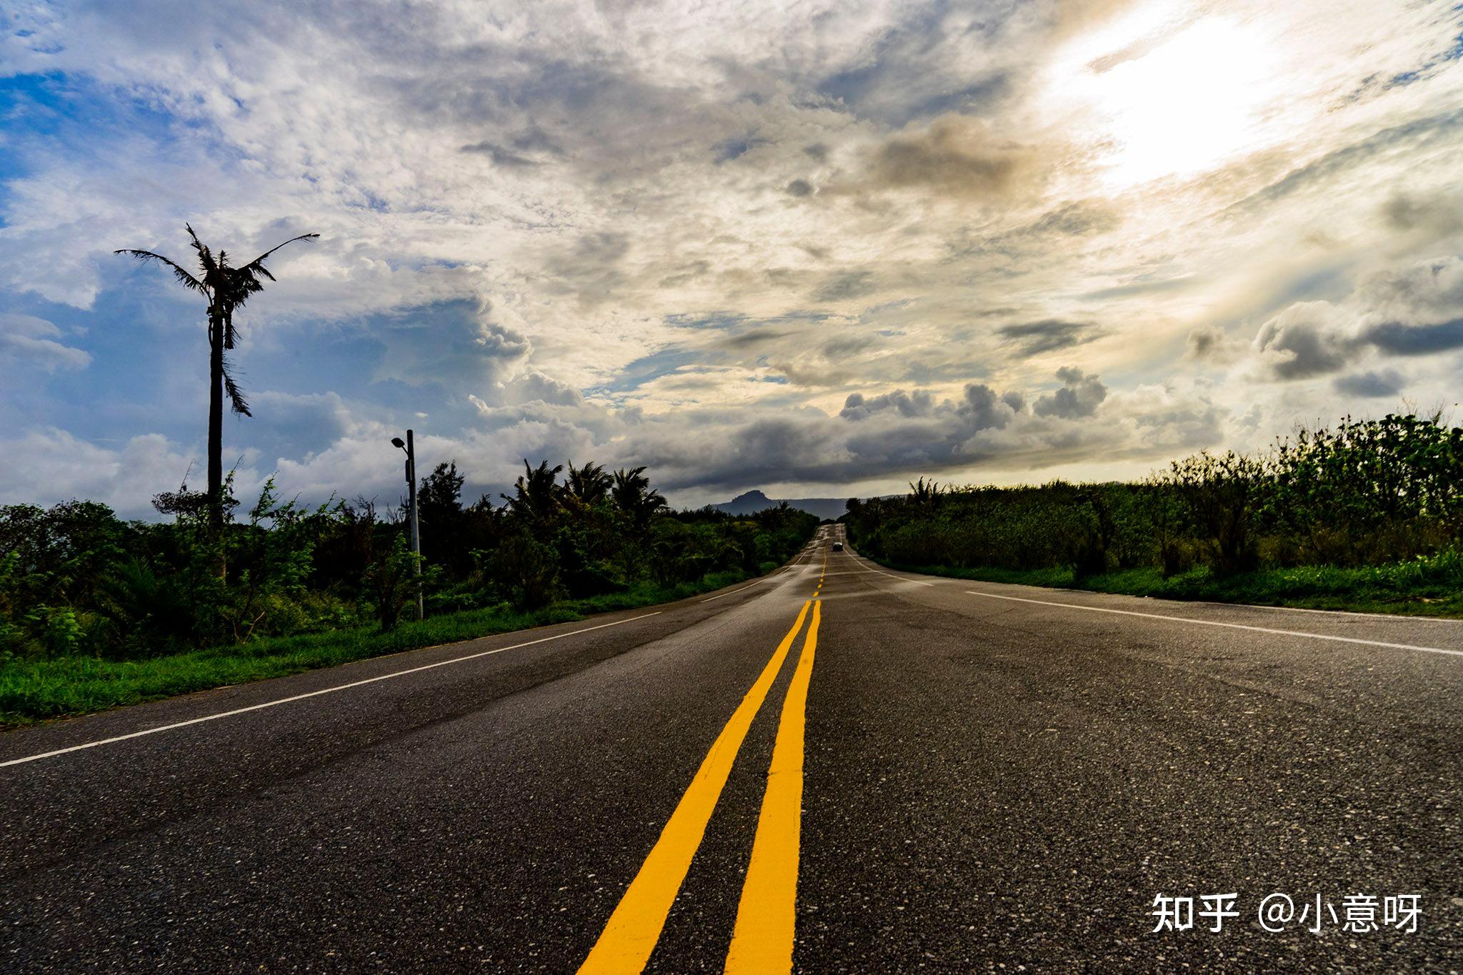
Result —
[{"label": "green grass verge strip along the road's right edge", "polygon": [[1207,566],[1201,566],[1169,579],[1165,579],[1157,567],[1124,569],[1075,579],[1071,569],[954,569],[949,566],[904,566],[888,561],[884,564],[929,576],[1086,589],[1129,596],[1463,617],[1463,558],[1457,553],[1364,569],[1299,566],[1264,569],[1233,576],[1216,576]]}]

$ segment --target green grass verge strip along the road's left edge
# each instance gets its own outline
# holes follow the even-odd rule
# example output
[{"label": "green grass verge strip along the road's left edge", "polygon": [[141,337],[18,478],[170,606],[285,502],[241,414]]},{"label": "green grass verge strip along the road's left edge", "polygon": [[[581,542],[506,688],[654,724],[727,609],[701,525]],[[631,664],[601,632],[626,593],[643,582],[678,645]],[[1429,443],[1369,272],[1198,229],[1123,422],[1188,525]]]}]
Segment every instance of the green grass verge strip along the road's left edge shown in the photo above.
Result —
[{"label": "green grass verge strip along the road's left edge", "polygon": [[503,608],[467,610],[402,623],[382,633],[375,626],[290,637],[268,637],[241,646],[217,646],[140,661],[95,656],[0,659],[0,726],[83,715],[196,690],[284,677],[370,656],[399,653],[437,643],[471,640],[550,623],[582,620],[594,612],[673,602],[746,579],[742,572],[712,573],[679,586],[639,585],[590,599],[557,602],[534,612]]}]

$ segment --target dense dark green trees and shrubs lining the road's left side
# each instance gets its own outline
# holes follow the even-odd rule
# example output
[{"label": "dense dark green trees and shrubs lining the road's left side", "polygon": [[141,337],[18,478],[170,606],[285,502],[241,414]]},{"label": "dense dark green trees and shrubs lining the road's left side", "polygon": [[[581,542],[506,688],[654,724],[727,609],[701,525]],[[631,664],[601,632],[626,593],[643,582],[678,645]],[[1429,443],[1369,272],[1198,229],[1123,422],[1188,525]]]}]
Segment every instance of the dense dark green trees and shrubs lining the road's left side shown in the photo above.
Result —
[{"label": "dense dark green trees and shrubs lining the road's left side", "polygon": [[154,506],[171,516],[161,523],[119,519],[95,501],[0,507],[0,658],[127,659],[391,629],[418,586],[429,615],[636,588],[669,598],[715,573],[770,572],[816,526],[786,504],[745,517],[670,510],[645,468],[525,460],[502,504],[464,503],[464,482],[455,462],[421,478],[420,574],[404,506],[307,506],[282,498],[272,479],[246,512],[231,475],[217,493],[158,494]]}]

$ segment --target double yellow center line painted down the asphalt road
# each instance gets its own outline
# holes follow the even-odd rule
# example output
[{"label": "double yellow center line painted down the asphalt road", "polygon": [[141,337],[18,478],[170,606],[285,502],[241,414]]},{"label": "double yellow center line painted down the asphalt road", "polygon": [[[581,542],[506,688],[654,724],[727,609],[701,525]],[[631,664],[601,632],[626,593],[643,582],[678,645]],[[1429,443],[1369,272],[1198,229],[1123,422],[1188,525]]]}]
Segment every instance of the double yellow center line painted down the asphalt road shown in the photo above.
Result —
[{"label": "double yellow center line painted down the asphalt road", "polygon": [[[819,586],[822,577],[819,576]],[[803,801],[803,726],[808,710],[808,684],[818,648],[818,623],[822,601],[803,604],[797,621],[777,645],[772,659],[762,668],[752,688],[732,712],[711,751],[701,762],[695,778],[680,797],[676,811],[655,841],[635,880],[625,890],[609,924],[579,966],[579,975],[639,972],[655,950],[666,917],[686,880],[691,861],[705,836],[707,823],[732,775],[752,719],[767,700],[783,662],[797,639],[808,610],[812,623],[797,658],[772,746],[772,763],[762,795],[762,811],[752,842],[752,860],[742,884],[727,972],[789,972],[793,966],[793,933],[797,905],[797,857],[802,833]]]}]

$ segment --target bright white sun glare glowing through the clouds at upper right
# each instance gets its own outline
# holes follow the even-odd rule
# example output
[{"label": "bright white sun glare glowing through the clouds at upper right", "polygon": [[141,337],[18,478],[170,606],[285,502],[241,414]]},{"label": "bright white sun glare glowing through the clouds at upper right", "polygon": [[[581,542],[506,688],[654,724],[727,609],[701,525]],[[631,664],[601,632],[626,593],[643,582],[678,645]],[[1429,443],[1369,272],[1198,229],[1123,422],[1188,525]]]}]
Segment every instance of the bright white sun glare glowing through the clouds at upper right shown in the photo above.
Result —
[{"label": "bright white sun glare glowing through the clouds at upper right", "polygon": [[1093,134],[1110,146],[1100,156],[1109,186],[1203,172],[1261,142],[1261,110],[1277,79],[1270,44],[1252,25],[1204,18],[1128,50],[1106,70],[1084,66]]}]

